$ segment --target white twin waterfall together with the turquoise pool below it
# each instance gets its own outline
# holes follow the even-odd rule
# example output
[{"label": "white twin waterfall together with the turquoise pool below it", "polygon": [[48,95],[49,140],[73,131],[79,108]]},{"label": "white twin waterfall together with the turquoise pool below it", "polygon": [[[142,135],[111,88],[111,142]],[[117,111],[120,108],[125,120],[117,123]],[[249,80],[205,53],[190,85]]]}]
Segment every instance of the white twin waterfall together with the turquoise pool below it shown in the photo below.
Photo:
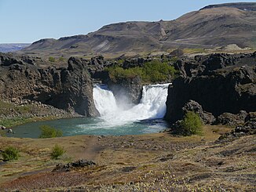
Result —
[{"label": "white twin waterfall together with the turquoise pool below it", "polygon": [[123,102],[118,105],[106,85],[94,85],[93,100],[101,117],[28,123],[13,128],[15,134],[9,136],[38,138],[42,125],[61,129],[64,136],[123,136],[159,132],[167,127],[166,122],[161,119],[166,113],[168,85],[144,85],[141,102],[129,108],[125,107],[125,96]]}]

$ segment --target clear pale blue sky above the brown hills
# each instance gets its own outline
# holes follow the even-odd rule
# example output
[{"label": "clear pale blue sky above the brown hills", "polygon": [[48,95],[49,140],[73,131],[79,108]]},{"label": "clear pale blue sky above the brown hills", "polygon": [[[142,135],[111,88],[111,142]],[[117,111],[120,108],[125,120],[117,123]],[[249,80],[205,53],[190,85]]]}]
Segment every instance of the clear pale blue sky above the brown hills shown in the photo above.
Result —
[{"label": "clear pale blue sky above the brown hills", "polygon": [[211,4],[251,0],[0,0],[0,43],[88,34],[106,24],[174,20]]}]

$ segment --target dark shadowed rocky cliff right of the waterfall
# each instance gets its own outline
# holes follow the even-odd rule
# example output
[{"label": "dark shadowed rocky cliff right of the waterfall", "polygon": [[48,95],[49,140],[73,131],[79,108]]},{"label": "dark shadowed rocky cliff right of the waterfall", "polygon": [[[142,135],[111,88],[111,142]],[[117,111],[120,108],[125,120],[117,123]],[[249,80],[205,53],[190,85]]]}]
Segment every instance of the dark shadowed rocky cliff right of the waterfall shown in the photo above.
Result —
[{"label": "dark shadowed rocky cliff right of the waterfall", "polygon": [[189,100],[214,114],[256,111],[256,53],[212,54],[175,63],[181,76],[168,89],[165,119],[183,117]]}]

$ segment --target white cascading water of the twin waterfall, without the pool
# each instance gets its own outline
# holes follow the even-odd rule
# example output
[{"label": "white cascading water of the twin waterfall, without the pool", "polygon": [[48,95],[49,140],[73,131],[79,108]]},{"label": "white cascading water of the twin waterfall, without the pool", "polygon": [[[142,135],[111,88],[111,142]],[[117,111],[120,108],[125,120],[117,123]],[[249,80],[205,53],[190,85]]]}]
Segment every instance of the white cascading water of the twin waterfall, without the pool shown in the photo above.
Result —
[{"label": "white cascading water of the twin waterfall, without the pool", "polygon": [[106,85],[94,85],[93,100],[104,120],[104,126],[112,127],[129,122],[163,118],[166,112],[168,85],[144,85],[141,102],[128,110],[117,106],[115,96]]}]

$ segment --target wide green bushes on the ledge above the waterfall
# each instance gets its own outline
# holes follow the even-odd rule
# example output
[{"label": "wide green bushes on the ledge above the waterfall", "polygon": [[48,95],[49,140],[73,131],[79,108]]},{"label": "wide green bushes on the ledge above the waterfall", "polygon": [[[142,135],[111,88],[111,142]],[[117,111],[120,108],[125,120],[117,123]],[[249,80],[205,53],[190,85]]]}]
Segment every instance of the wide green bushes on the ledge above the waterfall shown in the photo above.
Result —
[{"label": "wide green bushes on the ledge above the waterfall", "polygon": [[130,67],[123,69],[123,67],[113,66],[105,69],[108,71],[110,78],[115,81],[117,78],[135,78],[141,77],[142,82],[164,82],[175,77],[177,71],[168,63],[160,60],[152,60],[144,63],[143,67]]}]

